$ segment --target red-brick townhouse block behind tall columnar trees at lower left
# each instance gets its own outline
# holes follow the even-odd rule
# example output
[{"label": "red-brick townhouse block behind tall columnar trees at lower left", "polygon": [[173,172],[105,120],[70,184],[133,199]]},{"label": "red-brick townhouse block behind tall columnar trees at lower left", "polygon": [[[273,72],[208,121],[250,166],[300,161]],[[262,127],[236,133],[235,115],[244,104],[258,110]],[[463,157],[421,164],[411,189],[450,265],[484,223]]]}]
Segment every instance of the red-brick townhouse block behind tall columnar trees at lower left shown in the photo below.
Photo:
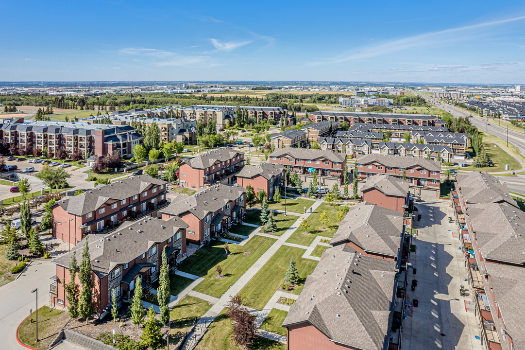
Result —
[{"label": "red-brick townhouse block behind tall columnar trees at lower left", "polygon": [[[158,280],[164,247],[171,269],[184,256],[186,227],[187,224],[180,218],[168,221],[144,218],[124,223],[113,233],[87,235],[71,252],[53,261],[56,275],[53,277],[55,282],[50,286],[50,305],[56,308],[69,306],[65,291],[65,285],[71,282],[69,263],[76,252],[77,264],[80,264],[86,240],[89,242],[95,281],[93,306],[97,316],[103,317],[109,312],[113,294],[116,294],[119,305],[130,304],[139,277],[144,287]],[[76,283],[80,285],[78,271]]]}]

